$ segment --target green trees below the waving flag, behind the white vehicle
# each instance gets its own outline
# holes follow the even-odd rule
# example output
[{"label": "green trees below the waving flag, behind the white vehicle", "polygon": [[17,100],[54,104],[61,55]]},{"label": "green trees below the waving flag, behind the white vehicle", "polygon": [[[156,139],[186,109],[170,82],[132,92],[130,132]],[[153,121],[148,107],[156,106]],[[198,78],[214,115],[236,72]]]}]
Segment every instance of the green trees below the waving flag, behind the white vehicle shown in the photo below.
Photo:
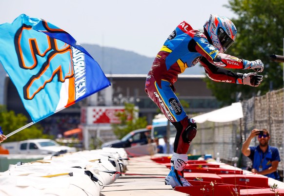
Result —
[{"label": "green trees below the waving flag, behind the white vehicle", "polygon": [[[14,111],[7,111],[3,106],[0,106],[0,126],[5,135],[28,124],[28,118],[23,114],[15,114]],[[34,124],[10,137],[7,142],[21,141],[33,138],[50,138],[49,135],[42,134],[42,128],[39,124]]]}]

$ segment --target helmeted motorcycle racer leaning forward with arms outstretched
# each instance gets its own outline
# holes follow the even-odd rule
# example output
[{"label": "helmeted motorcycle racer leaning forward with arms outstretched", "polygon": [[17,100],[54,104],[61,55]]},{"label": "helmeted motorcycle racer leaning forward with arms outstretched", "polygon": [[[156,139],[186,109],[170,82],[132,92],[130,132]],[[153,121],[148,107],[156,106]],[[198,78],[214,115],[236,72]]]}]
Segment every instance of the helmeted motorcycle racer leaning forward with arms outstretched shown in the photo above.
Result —
[{"label": "helmeted motorcycle racer leaning forward with arms outstretched", "polygon": [[[187,22],[181,22],[158,52],[145,83],[145,92],[177,130],[171,171],[165,178],[165,184],[173,188],[190,186],[183,177],[183,168],[187,163],[186,153],[197,133],[196,122],[186,115],[175,94],[178,75],[185,68],[200,63],[205,74],[216,82],[258,87],[263,80],[263,76],[257,74],[264,70],[261,60],[248,61],[224,54],[237,36],[233,22],[226,17],[210,15],[203,28],[201,33]],[[235,73],[226,68],[253,69],[256,72]]]}]

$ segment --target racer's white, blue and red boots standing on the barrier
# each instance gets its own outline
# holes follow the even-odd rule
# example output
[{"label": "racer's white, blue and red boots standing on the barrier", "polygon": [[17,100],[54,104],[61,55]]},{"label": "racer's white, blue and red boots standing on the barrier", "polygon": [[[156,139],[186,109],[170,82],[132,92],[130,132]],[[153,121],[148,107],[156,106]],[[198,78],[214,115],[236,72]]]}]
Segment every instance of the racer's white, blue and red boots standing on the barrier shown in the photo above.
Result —
[{"label": "racer's white, blue and red boots standing on the barrier", "polygon": [[173,153],[171,158],[171,171],[165,177],[165,185],[171,185],[172,188],[176,186],[192,186],[183,177],[183,168],[187,163],[187,154]]}]

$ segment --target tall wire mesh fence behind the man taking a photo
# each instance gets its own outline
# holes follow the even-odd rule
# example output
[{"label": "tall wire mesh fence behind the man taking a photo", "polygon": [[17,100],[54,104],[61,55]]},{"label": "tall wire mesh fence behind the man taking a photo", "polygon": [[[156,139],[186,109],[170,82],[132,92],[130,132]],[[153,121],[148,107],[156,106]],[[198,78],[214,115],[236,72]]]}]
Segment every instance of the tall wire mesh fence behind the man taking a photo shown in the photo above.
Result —
[{"label": "tall wire mesh fence behind the man taking a photo", "polygon": [[[238,157],[238,167],[245,169],[250,167],[252,162],[241,152],[243,142],[254,128],[267,129],[271,136],[269,145],[279,150],[281,162],[278,170],[282,173],[284,168],[283,96],[282,88],[242,101],[243,118],[236,121],[227,123],[206,121],[198,124],[198,134],[192,141],[189,153],[211,154],[214,158],[219,152],[221,160],[232,165],[233,158]],[[257,138],[254,138],[250,146],[257,145]]]}]

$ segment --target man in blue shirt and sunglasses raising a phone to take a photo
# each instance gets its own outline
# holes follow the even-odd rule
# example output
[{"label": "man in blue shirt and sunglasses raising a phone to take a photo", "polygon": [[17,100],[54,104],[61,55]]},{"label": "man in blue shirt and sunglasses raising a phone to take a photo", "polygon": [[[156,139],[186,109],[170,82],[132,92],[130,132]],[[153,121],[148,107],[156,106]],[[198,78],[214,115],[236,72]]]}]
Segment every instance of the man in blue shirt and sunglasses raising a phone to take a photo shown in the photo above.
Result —
[{"label": "man in blue shirt and sunglasses raising a phone to take a photo", "polygon": [[[257,136],[259,145],[249,147],[251,140],[255,136]],[[268,145],[269,139],[270,136],[267,130],[254,129],[243,142],[242,152],[253,162],[251,172],[279,180],[280,176],[277,173],[277,167],[280,162],[280,155],[277,148]]]}]

